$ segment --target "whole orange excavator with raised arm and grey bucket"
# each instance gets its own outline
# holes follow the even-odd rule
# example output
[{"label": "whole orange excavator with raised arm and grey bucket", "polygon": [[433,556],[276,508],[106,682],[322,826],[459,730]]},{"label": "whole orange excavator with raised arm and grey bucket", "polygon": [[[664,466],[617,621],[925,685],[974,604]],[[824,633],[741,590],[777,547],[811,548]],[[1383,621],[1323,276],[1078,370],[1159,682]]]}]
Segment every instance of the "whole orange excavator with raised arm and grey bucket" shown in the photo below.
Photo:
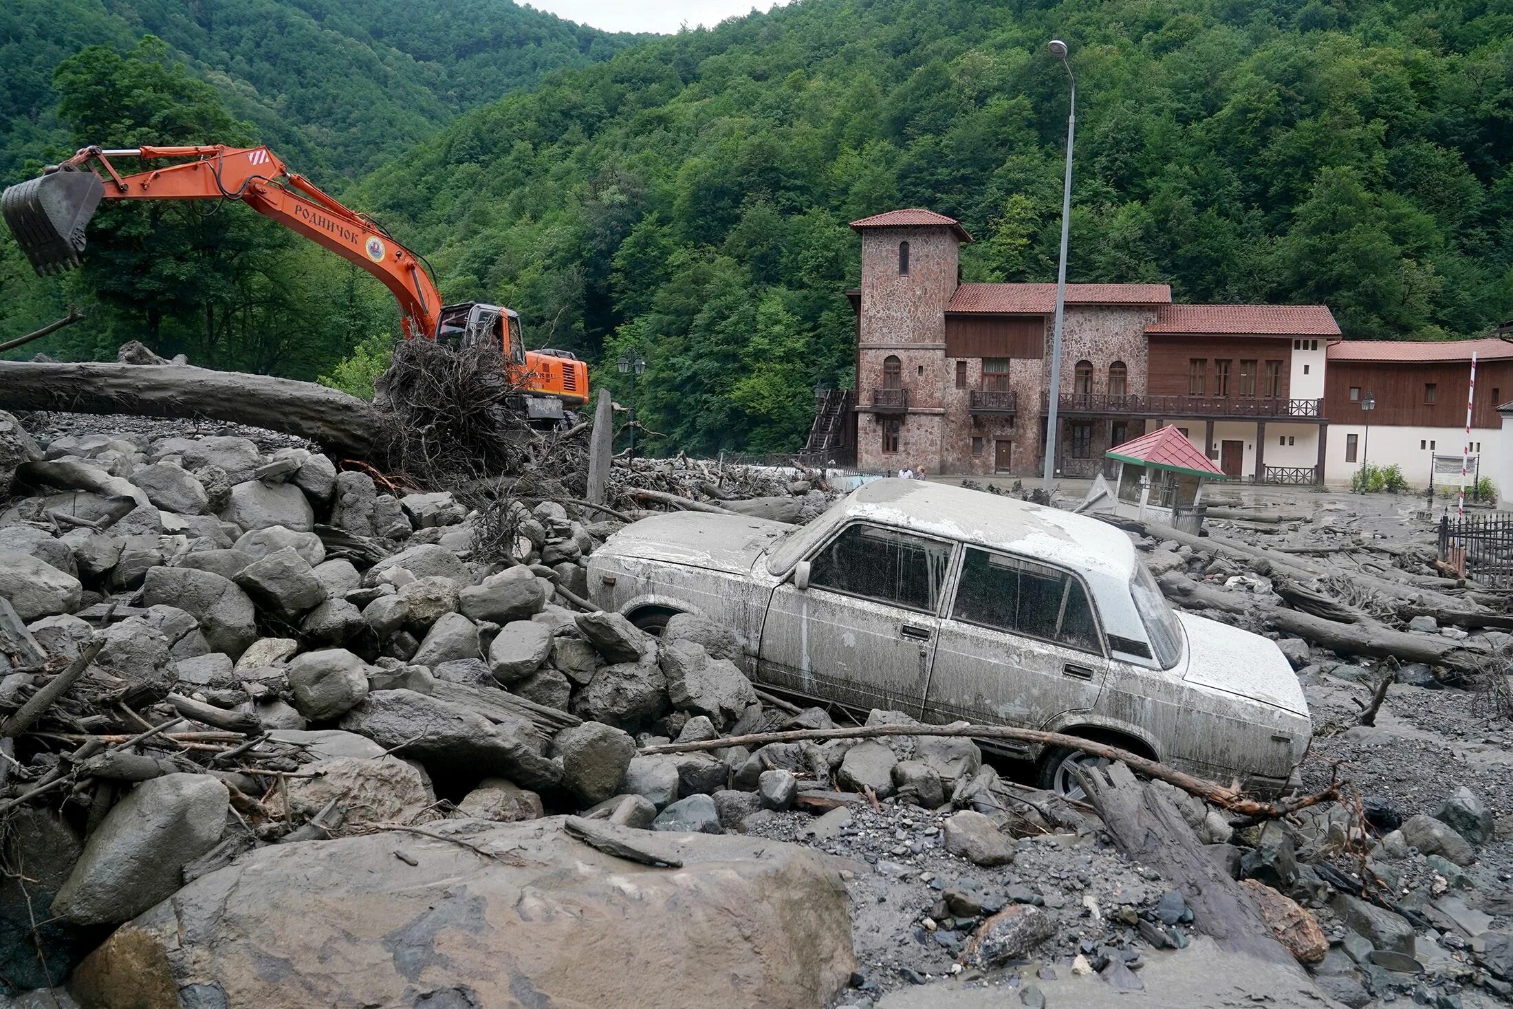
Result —
[{"label": "whole orange excavator with raised arm and grey bucket", "polygon": [[[121,175],[112,159],[127,157],[189,160]],[[383,281],[399,300],[405,339],[498,343],[510,380],[520,389],[519,405],[533,422],[561,421],[564,407],[589,401],[584,362],[567,351],[527,351],[520,316],[510,309],[478,301],[442,304],[416,253],[366,213],[348,210],[289,171],[266,147],[86,147],[39,177],[8,188],[0,195],[0,215],[36,272],[54,274],[79,265],[85,228],[101,200],[239,200]]]}]

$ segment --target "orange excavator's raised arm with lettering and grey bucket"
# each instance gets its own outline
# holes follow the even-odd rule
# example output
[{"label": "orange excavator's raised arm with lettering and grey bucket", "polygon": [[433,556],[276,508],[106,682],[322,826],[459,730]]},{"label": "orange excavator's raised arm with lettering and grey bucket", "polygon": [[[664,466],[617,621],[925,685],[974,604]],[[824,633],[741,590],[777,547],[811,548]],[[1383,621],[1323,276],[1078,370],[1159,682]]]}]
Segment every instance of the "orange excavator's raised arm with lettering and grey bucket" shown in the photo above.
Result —
[{"label": "orange excavator's raised arm with lettering and grey bucket", "polygon": [[[121,175],[113,160],[127,157],[194,160]],[[100,200],[239,200],[383,281],[399,301],[405,336],[436,336],[442,296],[419,257],[266,147],[86,147],[56,171],[6,189],[0,210],[32,266],[56,272],[79,265],[85,224]]]}]

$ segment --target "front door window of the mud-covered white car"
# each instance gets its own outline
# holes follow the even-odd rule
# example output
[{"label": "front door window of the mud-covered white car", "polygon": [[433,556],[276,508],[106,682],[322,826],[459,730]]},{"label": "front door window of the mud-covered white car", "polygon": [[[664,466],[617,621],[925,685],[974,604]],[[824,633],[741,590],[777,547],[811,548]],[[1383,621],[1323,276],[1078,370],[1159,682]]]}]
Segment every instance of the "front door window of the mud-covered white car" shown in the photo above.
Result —
[{"label": "front door window of the mud-covered white car", "polygon": [[809,563],[809,585],[935,613],[950,543],[852,525]]}]

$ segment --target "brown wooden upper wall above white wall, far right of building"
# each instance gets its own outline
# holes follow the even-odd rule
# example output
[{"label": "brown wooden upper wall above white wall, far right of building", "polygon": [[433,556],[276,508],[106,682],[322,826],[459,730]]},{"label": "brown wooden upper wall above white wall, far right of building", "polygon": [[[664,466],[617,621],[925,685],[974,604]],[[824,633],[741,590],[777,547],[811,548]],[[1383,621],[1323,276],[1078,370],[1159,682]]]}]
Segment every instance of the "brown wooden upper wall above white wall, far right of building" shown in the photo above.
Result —
[{"label": "brown wooden upper wall above white wall, far right of building", "polygon": [[[1471,362],[1353,362],[1330,360],[1324,386],[1325,416],[1362,422],[1360,396],[1377,401],[1371,425],[1459,428],[1466,424]],[[1427,402],[1425,386],[1434,386]],[[1354,398],[1351,390],[1360,390]],[[1477,362],[1477,402],[1471,427],[1502,427],[1498,405],[1513,399],[1513,359]]]}]

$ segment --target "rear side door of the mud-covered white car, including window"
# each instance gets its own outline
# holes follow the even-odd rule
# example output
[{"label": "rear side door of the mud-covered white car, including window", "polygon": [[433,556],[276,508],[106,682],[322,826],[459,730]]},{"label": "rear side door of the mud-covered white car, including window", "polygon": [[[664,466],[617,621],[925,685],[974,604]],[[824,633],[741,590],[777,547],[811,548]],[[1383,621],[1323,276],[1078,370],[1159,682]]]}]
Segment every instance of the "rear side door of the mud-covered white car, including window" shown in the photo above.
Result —
[{"label": "rear side door of the mud-covered white car, including window", "polygon": [[964,546],[926,691],[930,722],[1039,729],[1097,703],[1108,675],[1103,631],[1073,572]]}]

